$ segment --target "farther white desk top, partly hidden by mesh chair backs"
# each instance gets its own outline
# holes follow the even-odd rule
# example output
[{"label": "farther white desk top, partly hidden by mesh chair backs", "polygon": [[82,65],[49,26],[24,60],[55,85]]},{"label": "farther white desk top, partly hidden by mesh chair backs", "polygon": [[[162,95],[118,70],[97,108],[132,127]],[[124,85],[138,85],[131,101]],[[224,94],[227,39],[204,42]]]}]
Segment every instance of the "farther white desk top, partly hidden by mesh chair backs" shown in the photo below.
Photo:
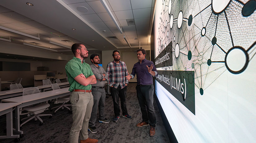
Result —
[{"label": "farther white desk top, partly hidden by mesh chair backs", "polygon": [[[68,87],[69,82],[58,83],[58,85],[60,86],[60,88]],[[52,88],[51,88],[51,85],[49,84],[49,85],[38,86],[38,89],[41,92],[44,92],[45,90],[50,90]],[[23,92],[22,88],[21,89],[1,91],[0,92],[0,100],[15,97],[15,96],[22,96],[22,92]]]}]

